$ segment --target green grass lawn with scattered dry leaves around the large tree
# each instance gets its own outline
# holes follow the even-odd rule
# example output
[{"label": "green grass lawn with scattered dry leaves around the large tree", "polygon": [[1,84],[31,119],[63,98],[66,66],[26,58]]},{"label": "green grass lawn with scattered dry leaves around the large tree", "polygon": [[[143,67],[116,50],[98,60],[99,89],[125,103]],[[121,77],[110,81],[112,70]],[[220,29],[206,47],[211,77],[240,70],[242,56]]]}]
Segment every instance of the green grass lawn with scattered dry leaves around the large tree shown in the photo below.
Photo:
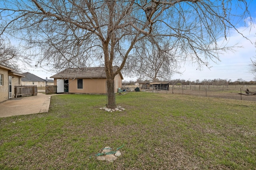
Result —
[{"label": "green grass lawn with scattered dry leaves around the large tree", "polygon": [[[48,113],[0,118],[0,169],[256,169],[256,102],[130,92],[52,96]],[[96,159],[120,149],[114,162]]]}]

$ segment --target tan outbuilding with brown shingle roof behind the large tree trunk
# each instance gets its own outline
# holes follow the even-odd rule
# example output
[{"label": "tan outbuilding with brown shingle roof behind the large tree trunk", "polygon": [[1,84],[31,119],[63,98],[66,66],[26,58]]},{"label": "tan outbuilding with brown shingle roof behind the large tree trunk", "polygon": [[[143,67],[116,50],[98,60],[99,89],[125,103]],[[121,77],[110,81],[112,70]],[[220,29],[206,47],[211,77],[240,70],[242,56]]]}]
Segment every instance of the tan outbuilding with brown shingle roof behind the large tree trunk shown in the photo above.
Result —
[{"label": "tan outbuilding with brown shingle roof behind the large tree trunk", "polygon": [[[113,69],[117,69],[114,66]],[[106,94],[106,73],[104,67],[67,68],[50,78],[54,78],[57,93]],[[114,78],[115,92],[122,88],[121,73]]]}]

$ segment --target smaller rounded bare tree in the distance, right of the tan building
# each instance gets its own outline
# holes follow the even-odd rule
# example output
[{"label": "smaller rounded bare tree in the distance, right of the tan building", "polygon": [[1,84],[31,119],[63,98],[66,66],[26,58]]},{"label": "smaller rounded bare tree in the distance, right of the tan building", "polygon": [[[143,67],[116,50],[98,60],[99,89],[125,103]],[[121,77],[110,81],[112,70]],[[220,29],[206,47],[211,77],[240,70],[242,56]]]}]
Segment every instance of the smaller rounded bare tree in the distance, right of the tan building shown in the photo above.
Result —
[{"label": "smaller rounded bare tree in the distance, right of the tan building", "polygon": [[157,80],[168,80],[173,73],[180,73],[179,60],[181,57],[176,56],[172,48],[169,46],[169,42],[156,43],[148,45],[146,42],[143,43],[142,47],[136,48],[136,59],[132,58],[129,66],[129,73],[139,76],[143,79],[151,79],[153,82]]}]

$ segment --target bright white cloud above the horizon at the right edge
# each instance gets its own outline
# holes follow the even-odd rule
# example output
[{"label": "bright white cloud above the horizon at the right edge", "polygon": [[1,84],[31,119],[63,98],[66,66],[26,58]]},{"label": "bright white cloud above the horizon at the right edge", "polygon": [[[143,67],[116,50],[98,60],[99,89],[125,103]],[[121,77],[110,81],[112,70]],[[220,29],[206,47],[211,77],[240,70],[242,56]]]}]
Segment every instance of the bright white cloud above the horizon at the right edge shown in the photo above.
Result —
[{"label": "bright white cloud above the horizon at the right edge", "polygon": [[[256,23],[256,18],[253,19]],[[241,48],[235,47],[234,52],[227,52],[223,55],[220,55],[221,62],[210,63],[212,68],[210,70],[206,67],[202,71],[196,70],[196,66],[192,64],[185,64],[182,70],[185,70],[182,75],[174,75],[172,79],[184,79],[184,80],[203,80],[203,79],[231,79],[237,80],[242,78],[243,80],[250,81],[253,80],[253,75],[250,73],[248,64],[251,63],[251,58],[256,56],[256,27],[253,25],[249,27],[238,27],[242,35],[237,31],[231,30],[230,37],[228,38],[227,46],[242,46]]]}]

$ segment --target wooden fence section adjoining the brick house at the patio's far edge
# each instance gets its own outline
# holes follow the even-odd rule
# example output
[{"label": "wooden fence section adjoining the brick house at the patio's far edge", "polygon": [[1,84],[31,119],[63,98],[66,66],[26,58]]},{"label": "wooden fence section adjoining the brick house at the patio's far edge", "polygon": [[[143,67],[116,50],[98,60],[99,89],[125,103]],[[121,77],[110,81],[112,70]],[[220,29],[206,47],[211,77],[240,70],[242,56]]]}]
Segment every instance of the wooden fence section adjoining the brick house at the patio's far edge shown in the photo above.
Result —
[{"label": "wooden fence section adjoining the brick house at the patio's far edge", "polygon": [[14,86],[15,98],[36,96],[37,86]]}]

